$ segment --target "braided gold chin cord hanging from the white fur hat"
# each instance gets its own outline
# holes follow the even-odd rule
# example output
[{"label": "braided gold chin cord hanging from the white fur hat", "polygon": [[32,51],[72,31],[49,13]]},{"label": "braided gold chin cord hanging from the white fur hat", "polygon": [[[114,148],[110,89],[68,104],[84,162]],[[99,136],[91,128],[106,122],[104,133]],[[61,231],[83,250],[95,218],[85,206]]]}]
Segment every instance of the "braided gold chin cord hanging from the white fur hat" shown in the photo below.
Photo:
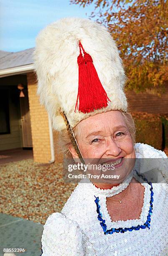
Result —
[{"label": "braided gold chin cord hanging from the white fur hat", "polygon": [[69,121],[68,121],[68,119],[67,119],[67,116],[66,116],[66,114],[65,114],[64,111],[63,111],[63,112],[60,112],[60,113],[61,113],[62,117],[64,118],[64,121],[65,121],[65,124],[66,124],[66,129],[67,129],[67,131],[68,131],[68,134],[69,134],[69,138],[70,138],[70,140],[71,140],[71,143],[72,143],[72,145],[74,146],[75,151],[76,151],[76,153],[78,154],[81,163],[84,164],[84,159],[83,159],[83,157],[82,157],[82,155],[81,155],[81,151],[80,151],[80,149],[79,149],[79,146],[78,146],[78,143],[77,143],[76,138],[75,138],[75,136],[74,136],[74,132],[73,132],[73,130],[72,130],[72,128],[71,128],[71,125],[69,124]]}]

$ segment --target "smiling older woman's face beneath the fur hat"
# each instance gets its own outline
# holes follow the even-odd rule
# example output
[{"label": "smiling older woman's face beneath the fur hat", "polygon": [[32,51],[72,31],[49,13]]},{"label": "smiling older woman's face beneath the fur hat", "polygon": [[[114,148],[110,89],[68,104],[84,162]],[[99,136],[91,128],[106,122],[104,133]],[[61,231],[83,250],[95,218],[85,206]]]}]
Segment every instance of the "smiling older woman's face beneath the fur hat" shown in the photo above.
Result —
[{"label": "smiling older woman's face beneath the fur hat", "polygon": [[[77,125],[76,140],[85,163],[113,166],[107,171],[97,171],[97,173],[120,175],[120,178],[115,180],[115,184],[122,182],[135,164],[132,138],[122,113],[118,110],[82,120]],[[75,155],[73,157],[75,158]],[[108,178],[105,180],[109,181]]]}]

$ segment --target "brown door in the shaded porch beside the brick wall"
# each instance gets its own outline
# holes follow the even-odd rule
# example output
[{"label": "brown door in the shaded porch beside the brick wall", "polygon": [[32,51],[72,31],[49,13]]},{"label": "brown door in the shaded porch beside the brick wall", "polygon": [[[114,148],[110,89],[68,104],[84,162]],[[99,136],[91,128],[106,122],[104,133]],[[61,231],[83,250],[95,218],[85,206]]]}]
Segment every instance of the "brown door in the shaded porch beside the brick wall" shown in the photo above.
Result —
[{"label": "brown door in the shaded porch beside the brick wall", "polygon": [[31,117],[28,104],[28,90],[23,90],[25,97],[20,97],[20,113],[23,148],[32,148]]}]

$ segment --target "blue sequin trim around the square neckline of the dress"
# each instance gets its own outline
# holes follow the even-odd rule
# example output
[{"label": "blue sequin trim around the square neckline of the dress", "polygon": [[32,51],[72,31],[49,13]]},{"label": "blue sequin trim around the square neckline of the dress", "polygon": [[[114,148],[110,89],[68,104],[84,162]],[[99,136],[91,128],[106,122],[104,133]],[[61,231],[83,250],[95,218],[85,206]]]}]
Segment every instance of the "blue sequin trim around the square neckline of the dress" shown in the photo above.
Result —
[{"label": "blue sequin trim around the square neckline of the dress", "polygon": [[[135,170],[136,171],[136,170]],[[136,171],[137,173],[137,171]],[[140,230],[140,228],[145,229],[148,228],[150,229],[150,220],[151,220],[151,215],[152,215],[152,210],[153,210],[153,186],[151,182],[148,182],[146,178],[144,178],[142,175],[138,174],[139,177],[142,177],[144,181],[146,181],[150,185],[150,208],[149,208],[149,213],[147,216],[147,220],[143,225],[137,225],[137,226],[132,226],[130,228],[111,228],[107,229],[107,225],[105,223],[105,220],[103,220],[102,213],[100,212],[100,205],[99,205],[99,197],[96,197],[96,200],[94,202],[97,205],[97,213],[98,213],[98,220],[100,221],[100,225],[102,226],[102,229],[104,231],[104,235],[107,234],[113,234],[113,233],[125,233],[127,231],[132,231],[132,230]]]}]

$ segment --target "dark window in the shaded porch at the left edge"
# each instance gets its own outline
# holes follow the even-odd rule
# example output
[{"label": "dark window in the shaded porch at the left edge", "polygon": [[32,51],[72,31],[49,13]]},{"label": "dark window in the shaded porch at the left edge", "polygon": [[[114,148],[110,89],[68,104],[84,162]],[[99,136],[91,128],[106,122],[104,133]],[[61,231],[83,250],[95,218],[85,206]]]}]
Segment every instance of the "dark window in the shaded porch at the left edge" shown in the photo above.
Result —
[{"label": "dark window in the shaded porch at the left edge", "polygon": [[0,90],[0,134],[10,133],[8,90]]}]

